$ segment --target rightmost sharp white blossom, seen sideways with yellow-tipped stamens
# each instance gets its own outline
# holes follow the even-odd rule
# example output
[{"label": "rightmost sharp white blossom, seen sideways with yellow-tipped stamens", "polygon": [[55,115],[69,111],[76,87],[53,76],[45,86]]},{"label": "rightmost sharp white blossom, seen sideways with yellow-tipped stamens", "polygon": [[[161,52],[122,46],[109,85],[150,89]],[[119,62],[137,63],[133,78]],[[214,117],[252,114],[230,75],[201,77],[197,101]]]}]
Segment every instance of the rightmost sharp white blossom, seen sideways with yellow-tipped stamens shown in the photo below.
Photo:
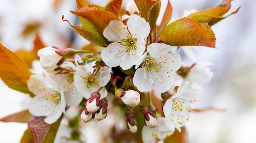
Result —
[{"label": "rightmost sharp white blossom, seen sideways with yellow-tipped stamens", "polygon": [[[186,81],[182,85],[177,93],[171,96],[170,99],[166,100],[163,111],[165,115],[166,126],[175,130],[175,128],[180,132],[180,128],[184,126],[184,123],[189,121],[189,107],[200,100],[201,92],[198,89],[187,88],[189,82]],[[171,93],[173,91],[170,91]]]}]

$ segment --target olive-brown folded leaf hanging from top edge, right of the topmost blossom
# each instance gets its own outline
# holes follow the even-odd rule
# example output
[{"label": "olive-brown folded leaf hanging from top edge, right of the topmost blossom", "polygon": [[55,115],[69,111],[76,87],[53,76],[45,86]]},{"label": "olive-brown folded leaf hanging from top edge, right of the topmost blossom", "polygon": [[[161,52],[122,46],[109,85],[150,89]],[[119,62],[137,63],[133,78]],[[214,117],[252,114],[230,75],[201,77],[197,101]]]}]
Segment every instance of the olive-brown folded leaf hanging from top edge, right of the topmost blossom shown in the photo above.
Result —
[{"label": "olive-brown folded leaf hanging from top edge, right of the topmost blossom", "polygon": [[150,25],[150,43],[155,42],[156,28],[155,23],[161,8],[160,0],[134,0],[141,17],[143,17]]}]

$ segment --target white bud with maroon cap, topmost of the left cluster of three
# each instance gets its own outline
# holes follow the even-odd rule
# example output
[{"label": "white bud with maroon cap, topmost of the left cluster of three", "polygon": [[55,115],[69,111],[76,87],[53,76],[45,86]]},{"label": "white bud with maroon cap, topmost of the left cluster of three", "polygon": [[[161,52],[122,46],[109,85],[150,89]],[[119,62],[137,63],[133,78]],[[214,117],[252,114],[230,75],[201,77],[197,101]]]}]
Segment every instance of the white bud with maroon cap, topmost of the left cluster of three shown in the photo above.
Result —
[{"label": "white bud with maroon cap, topmost of the left cluster of three", "polygon": [[101,97],[99,92],[93,92],[91,97],[86,100],[85,108],[90,112],[96,112],[99,109],[100,101],[99,98]]}]

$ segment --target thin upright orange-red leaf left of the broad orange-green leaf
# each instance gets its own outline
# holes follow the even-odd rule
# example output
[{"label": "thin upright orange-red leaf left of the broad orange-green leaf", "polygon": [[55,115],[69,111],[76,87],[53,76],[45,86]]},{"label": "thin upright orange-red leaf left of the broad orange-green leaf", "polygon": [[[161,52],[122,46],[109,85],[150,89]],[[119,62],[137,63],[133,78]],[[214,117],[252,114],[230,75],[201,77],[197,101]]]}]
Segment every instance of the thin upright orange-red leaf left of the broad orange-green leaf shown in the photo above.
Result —
[{"label": "thin upright orange-red leaf left of the broad orange-green leaf", "polygon": [[170,1],[168,0],[166,9],[164,11],[164,16],[163,16],[162,21],[161,21],[161,23],[160,23],[160,25],[158,27],[158,30],[157,30],[157,37],[156,37],[156,39],[159,38],[159,33],[163,30],[164,26],[166,26],[168,24],[168,22],[171,20],[172,13],[173,13],[173,8],[171,6]]}]

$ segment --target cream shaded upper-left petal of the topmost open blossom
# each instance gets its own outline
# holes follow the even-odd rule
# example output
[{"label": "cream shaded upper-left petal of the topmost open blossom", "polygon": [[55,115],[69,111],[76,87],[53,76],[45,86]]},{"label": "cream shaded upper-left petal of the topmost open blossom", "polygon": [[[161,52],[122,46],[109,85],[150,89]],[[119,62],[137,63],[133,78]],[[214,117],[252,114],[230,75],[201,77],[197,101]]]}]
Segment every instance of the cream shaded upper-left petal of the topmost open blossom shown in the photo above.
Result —
[{"label": "cream shaded upper-left petal of the topmost open blossom", "polygon": [[106,37],[108,41],[114,42],[126,39],[125,33],[128,33],[127,26],[120,20],[111,20],[103,31],[104,37]]}]

